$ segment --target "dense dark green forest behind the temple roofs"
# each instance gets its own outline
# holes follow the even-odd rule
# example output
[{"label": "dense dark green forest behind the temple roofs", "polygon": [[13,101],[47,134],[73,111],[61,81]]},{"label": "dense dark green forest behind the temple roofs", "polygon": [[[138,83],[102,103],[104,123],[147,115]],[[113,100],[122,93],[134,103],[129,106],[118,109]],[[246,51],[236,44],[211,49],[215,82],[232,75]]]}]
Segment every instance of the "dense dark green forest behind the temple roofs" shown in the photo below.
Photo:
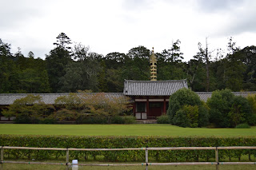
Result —
[{"label": "dense dark green forest behind the temple roofs", "polygon": [[[198,53],[190,61],[182,61],[180,44],[177,40],[170,49],[155,53],[158,81],[186,79],[194,91],[256,90],[256,46],[240,49],[229,38],[226,53],[210,51],[207,42],[205,48],[199,42]],[[11,45],[0,39],[0,93],[122,92],[124,79],[150,80],[152,52],[144,46],[103,56],[71,42],[64,33],[54,45],[43,60],[33,52],[24,56],[20,49],[10,53]]]}]

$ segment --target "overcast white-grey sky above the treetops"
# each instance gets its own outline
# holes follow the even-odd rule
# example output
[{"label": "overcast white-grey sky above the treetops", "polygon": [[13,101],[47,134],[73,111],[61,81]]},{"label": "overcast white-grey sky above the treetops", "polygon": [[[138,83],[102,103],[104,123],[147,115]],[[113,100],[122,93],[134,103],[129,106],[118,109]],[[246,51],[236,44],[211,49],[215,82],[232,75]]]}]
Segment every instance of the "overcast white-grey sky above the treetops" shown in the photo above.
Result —
[{"label": "overcast white-grey sky above the treetops", "polygon": [[12,53],[45,58],[60,33],[103,54],[154,46],[155,52],[181,41],[185,60],[198,51],[256,45],[255,0],[0,0],[0,38]]}]

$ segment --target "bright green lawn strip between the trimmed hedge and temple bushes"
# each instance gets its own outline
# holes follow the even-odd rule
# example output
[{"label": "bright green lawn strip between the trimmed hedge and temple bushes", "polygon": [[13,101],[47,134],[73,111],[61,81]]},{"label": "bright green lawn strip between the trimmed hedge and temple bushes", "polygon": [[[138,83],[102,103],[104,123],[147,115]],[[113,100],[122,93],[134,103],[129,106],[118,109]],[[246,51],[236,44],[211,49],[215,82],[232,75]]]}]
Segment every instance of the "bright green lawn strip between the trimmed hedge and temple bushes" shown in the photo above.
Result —
[{"label": "bright green lawn strip between the trimmed hedge and temple bushes", "polygon": [[173,125],[0,124],[0,134],[76,136],[256,136],[253,128],[180,128]]}]

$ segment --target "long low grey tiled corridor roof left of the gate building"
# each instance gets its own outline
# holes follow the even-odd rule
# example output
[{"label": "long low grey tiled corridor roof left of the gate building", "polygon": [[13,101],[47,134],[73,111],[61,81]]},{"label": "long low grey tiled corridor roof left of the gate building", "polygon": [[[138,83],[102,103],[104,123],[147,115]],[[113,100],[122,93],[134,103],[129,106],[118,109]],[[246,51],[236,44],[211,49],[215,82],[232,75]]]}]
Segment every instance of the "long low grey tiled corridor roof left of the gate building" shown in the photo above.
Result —
[{"label": "long low grey tiled corridor roof left of the gate building", "polygon": [[[26,97],[29,93],[2,93],[0,94],[0,105],[11,105],[16,99]],[[30,93],[31,94],[31,93]],[[90,93],[95,94],[95,93]],[[122,93],[104,93],[107,97],[119,97],[123,96]],[[45,104],[53,105],[54,101],[58,97],[67,96],[69,93],[33,93],[33,95],[39,95],[42,97],[42,101]]]}]

